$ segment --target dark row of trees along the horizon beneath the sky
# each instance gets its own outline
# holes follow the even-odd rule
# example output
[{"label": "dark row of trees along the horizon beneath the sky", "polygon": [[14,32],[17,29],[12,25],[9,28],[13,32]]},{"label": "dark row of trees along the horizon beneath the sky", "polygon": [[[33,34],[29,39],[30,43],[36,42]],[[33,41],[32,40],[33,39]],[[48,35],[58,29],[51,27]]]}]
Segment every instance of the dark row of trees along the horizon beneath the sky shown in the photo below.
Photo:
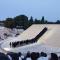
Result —
[{"label": "dark row of trees along the horizon beneath the sky", "polygon": [[45,20],[44,16],[40,20],[34,19],[32,16],[30,19],[26,15],[18,15],[14,18],[6,18],[5,21],[0,21],[0,23],[3,22],[4,26],[7,28],[23,28],[27,29],[32,24],[60,24],[60,21],[57,20],[56,22],[49,22],[48,20]]}]

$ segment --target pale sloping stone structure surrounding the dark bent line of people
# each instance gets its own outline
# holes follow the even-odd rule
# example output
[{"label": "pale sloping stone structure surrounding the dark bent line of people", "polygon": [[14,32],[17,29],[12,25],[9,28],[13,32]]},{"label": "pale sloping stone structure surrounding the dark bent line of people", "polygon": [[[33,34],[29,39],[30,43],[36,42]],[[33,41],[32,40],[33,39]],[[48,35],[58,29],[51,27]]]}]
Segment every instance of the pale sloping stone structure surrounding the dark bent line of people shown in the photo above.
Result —
[{"label": "pale sloping stone structure surrounding the dark bent line of people", "polygon": [[[47,31],[38,38],[37,42],[19,46],[10,47],[10,42],[25,41],[35,38],[44,28]],[[6,52],[45,52],[47,54],[53,52],[60,54],[60,25],[59,24],[34,24],[25,30],[18,37],[5,40],[1,44],[1,48]]]}]

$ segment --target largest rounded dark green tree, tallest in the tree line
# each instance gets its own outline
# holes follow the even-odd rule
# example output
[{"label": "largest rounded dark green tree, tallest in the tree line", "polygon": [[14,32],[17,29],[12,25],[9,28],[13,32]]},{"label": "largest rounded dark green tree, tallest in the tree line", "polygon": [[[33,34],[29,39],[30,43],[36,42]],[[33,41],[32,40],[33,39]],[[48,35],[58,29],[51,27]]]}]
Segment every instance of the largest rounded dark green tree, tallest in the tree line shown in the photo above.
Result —
[{"label": "largest rounded dark green tree, tallest in the tree line", "polygon": [[19,15],[14,18],[16,26],[23,26],[24,29],[28,28],[28,17],[25,15]]}]

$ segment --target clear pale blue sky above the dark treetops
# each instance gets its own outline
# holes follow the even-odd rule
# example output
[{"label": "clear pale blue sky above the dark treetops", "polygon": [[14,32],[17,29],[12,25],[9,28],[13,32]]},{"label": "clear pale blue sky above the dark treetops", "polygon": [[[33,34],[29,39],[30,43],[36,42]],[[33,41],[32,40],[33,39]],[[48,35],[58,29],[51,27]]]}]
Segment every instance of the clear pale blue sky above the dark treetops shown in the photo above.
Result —
[{"label": "clear pale blue sky above the dark treetops", "polygon": [[60,0],[0,0],[0,20],[17,15],[48,21],[60,20]]}]

